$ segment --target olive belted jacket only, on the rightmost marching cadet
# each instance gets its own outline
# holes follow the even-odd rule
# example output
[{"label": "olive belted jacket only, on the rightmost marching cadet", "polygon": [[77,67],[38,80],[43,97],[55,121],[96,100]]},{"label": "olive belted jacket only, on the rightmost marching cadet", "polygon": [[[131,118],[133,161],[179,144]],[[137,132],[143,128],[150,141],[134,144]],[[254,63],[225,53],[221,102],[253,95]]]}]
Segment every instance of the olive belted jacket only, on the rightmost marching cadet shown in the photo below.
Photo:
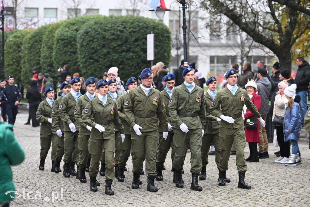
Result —
[{"label": "olive belted jacket only, on the rightmost marching cadet", "polygon": [[[233,95],[232,92],[226,87],[216,93],[213,101],[211,102],[210,113],[216,117],[220,117],[223,113],[240,115],[239,118],[233,118],[235,120],[234,123],[228,123],[224,120],[220,121],[219,127],[228,129],[243,128],[244,122],[241,113],[244,104],[246,104],[246,107],[254,114],[255,117],[260,117],[256,106],[252,103],[246,90],[238,88],[235,95]],[[219,110],[219,107],[222,108],[222,112]]]}]

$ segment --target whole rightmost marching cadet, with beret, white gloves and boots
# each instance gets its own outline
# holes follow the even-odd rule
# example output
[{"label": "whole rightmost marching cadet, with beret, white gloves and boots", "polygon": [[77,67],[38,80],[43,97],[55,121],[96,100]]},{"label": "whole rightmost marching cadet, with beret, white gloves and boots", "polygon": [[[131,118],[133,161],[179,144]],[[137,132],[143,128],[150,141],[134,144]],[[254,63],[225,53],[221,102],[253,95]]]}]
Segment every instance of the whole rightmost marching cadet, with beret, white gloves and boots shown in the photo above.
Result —
[{"label": "whole rightmost marching cadet, with beret, white gloves and boots", "polygon": [[[221,118],[219,126],[219,145],[221,147],[221,158],[219,161],[219,186],[226,184],[226,170],[228,170],[228,159],[232,142],[236,145],[236,165],[239,174],[238,188],[251,189],[251,186],[244,181],[247,170],[246,159],[244,158],[244,148],[246,146],[246,134],[242,118],[244,104],[254,114],[255,117],[265,126],[265,122],[260,116],[257,108],[252,103],[246,90],[237,85],[237,72],[230,69],[225,75],[228,82],[227,87],[218,91],[211,102],[210,113]],[[219,111],[221,107],[222,112]]]}]

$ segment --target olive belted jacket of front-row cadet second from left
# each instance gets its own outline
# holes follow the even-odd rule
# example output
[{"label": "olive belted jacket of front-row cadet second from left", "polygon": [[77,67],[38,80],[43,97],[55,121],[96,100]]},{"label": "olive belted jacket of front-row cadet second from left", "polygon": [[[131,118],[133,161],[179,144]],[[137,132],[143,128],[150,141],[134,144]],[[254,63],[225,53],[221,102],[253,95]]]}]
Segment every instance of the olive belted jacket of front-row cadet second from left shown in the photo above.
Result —
[{"label": "olive belted jacket of front-row cadet second from left", "polygon": [[[168,131],[168,121],[166,117],[165,104],[162,99],[162,94],[159,90],[152,88],[146,96],[140,86],[129,91],[124,112],[126,120],[130,123],[130,130],[134,131],[133,126],[138,124],[142,129],[141,132],[158,131],[157,117],[161,122],[163,131]],[[134,113],[139,114],[156,114],[155,117],[137,117]]]}]

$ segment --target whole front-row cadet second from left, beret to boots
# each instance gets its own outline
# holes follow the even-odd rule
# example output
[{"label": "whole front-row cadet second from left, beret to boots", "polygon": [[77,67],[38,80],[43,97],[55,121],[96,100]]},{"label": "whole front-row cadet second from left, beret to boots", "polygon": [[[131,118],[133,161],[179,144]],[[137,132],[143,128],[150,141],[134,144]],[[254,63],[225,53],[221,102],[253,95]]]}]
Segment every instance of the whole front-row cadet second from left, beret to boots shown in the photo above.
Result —
[{"label": "whole front-row cadet second from left, beret to boots", "polygon": [[168,121],[162,95],[152,86],[153,74],[151,69],[145,68],[141,72],[140,78],[142,81],[141,85],[129,91],[124,104],[126,120],[131,126],[131,140],[133,145],[133,181],[131,188],[139,188],[140,170],[142,169],[145,153],[145,171],[148,174],[146,190],[154,192],[158,191],[154,185],[157,175],[155,172],[158,140],[157,117],[164,131],[164,139],[168,136]]}]

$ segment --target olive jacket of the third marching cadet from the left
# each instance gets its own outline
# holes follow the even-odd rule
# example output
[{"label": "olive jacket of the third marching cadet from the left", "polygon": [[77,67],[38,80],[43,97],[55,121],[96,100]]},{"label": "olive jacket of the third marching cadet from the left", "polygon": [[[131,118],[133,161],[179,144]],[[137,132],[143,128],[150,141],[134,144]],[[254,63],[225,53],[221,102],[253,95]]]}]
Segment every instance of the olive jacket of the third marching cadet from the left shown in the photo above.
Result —
[{"label": "olive jacket of the third marching cadet from the left", "polygon": [[[82,95],[80,95],[79,98],[81,98],[81,96]],[[65,95],[61,99],[61,102],[60,102],[58,109],[59,109],[60,118],[64,122],[64,131],[71,131],[70,127],[69,127],[70,123],[73,123],[75,125],[76,131],[79,131],[79,129],[80,129],[79,122],[76,122],[73,120],[73,119],[75,119],[74,111],[77,111],[77,108],[75,107],[76,104],[77,104],[77,102],[75,101],[75,99],[71,93]]]}]

